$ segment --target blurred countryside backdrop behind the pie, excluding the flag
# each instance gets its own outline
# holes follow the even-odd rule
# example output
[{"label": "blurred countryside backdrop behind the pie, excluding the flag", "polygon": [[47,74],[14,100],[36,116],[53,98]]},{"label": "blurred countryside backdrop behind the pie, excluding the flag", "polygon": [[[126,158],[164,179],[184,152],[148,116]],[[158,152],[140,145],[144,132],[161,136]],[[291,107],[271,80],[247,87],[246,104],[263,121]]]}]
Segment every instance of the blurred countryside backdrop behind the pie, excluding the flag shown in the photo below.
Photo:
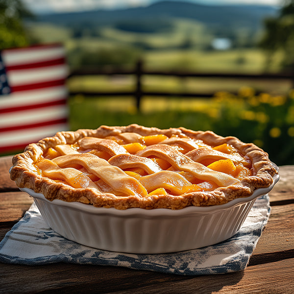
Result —
[{"label": "blurred countryside backdrop behind the pie, excluding the flag", "polygon": [[[293,0],[42,2],[0,0],[0,49],[64,45],[71,130],[212,130],[255,143],[278,165],[294,164]],[[127,95],[138,90],[138,60],[140,91],[157,93],[141,95],[139,109]],[[107,95],[115,91],[125,94]]]}]

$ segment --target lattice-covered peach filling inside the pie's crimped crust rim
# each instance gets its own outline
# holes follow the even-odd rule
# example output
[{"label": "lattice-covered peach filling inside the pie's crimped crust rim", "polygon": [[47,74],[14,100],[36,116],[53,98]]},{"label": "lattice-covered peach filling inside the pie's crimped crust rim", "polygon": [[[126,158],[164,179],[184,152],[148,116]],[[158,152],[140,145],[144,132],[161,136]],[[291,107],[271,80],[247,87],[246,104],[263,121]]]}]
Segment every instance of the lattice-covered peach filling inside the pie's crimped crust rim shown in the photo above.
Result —
[{"label": "lattice-covered peach filling inside the pie's crimped crust rim", "polygon": [[212,191],[252,175],[250,160],[231,145],[162,134],[84,137],[48,148],[35,166],[76,189],[139,197]]}]

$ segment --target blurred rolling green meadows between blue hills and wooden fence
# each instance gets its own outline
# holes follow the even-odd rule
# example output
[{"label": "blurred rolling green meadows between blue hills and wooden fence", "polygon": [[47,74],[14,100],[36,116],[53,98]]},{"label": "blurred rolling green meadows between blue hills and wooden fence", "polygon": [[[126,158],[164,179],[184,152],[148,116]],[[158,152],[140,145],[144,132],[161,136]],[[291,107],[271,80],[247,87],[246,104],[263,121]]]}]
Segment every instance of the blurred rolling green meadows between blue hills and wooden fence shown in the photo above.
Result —
[{"label": "blurred rolling green meadows between blue hills and wooden fence", "polygon": [[175,18],[171,29],[154,33],[123,31],[108,25],[91,30],[85,28],[77,38],[73,36],[74,32],[70,27],[46,23],[31,23],[28,30],[41,42],[63,43],[72,67],[81,66],[78,64],[79,56],[76,51],[99,54],[100,50],[105,49],[111,54],[124,49],[130,51],[130,56],[120,61],[123,66],[132,66],[132,61],[141,57],[147,69],[243,73],[260,73],[265,69],[276,72],[280,69],[281,56],[273,56],[269,66],[263,51],[243,46],[248,40],[257,41],[261,31],[253,36],[248,36],[244,29],[236,31],[238,37],[235,37],[235,49],[218,51],[210,48],[215,38],[213,32],[205,25],[187,19]]}]

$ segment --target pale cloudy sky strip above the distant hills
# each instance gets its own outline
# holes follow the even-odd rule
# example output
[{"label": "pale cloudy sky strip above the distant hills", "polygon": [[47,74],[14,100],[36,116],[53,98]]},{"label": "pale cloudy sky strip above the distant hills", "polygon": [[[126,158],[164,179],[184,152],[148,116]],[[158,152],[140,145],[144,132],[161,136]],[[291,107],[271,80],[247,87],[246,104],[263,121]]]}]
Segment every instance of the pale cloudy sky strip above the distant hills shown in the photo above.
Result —
[{"label": "pale cloudy sky strip above the distant hills", "polygon": [[[91,9],[114,9],[146,6],[159,0],[23,0],[35,13],[70,12]],[[181,0],[180,0],[181,1]],[[185,0],[201,4],[268,4],[279,5],[281,0]]]}]

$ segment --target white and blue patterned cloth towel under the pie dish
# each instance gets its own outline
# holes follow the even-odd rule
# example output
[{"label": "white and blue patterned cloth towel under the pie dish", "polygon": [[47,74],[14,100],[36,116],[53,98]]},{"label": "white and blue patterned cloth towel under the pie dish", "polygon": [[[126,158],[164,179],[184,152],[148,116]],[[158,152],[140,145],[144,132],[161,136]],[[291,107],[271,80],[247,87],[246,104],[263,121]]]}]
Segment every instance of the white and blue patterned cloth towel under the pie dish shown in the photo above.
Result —
[{"label": "white and blue patterned cloth towel under the pie dish", "polygon": [[99,250],[54,232],[32,204],[0,242],[0,262],[44,265],[57,262],[152,270],[181,275],[244,270],[270,216],[269,196],[259,197],[240,231],[230,239],[199,249],[166,254],[129,254]]}]

